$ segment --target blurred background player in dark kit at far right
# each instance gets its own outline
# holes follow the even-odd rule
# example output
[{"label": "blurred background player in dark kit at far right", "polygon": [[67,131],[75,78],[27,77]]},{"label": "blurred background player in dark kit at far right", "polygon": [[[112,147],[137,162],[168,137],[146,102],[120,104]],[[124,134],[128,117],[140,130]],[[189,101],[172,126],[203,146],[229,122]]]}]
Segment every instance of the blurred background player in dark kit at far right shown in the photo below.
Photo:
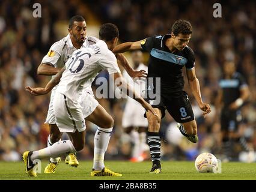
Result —
[{"label": "blurred background player in dark kit at far right", "polygon": [[224,160],[230,161],[233,144],[236,141],[239,141],[242,148],[249,152],[245,138],[237,133],[238,125],[242,121],[240,109],[249,97],[249,89],[242,74],[236,72],[236,64],[233,61],[224,63],[223,72],[223,77],[219,81],[216,108],[221,109]]}]

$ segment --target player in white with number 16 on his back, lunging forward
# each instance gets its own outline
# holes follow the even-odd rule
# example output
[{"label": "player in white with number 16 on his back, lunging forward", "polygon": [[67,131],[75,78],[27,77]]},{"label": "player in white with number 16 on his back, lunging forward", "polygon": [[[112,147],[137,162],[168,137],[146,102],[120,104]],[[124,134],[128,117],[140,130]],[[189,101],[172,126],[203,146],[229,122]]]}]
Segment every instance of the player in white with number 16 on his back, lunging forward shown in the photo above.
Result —
[{"label": "player in white with number 16 on his back, lunging forward", "polygon": [[[31,94],[43,95],[50,92],[59,83],[53,98],[53,112],[56,116],[56,124],[59,131],[66,132],[71,138],[71,140],[61,140],[52,146],[38,151],[24,152],[23,161],[29,176],[37,176],[33,169],[35,167],[34,160],[45,157],[60,157],[81,151],[84,148],[85,118],[99,126],[96,132],[97,137],[94,137],[96,150],[94,150],[94,164],[91,176],[121,176],[120,173],[114,173],[106,168],[103,162],[114,120],[100,106],[96,99],[91,94],[84,92],[83,89],[91,86],[91,83],[100,71],[108,70],[111,77],[114,77],[114,80],[120,78],[117,86],[121,86],[122,90],[126,90],[126,92],[132,92],[133,98],[141,103],[146,110],[149,110],[154,115],[156,113],[154,113],[150,104],[127,85],[121,76],[117,59],[114,53],[111,52],[118,41],[118,36],[117,26],[111,23],[102,25],[100,28],[100,39],[103,41],[98,41],[91,48],[82,47],[82,49],[76,50],[72,58],[66,63],[66,67],[59,71],[47,83],[45,88],[26,87],[26,91],[29,91]],[[87,114],[87,117],[85,117],[83,107],[81,106],[82,94],[85,94],[87,97],[87,106],[90,109],[94,109],[90,115]],[[97,150],[99,148],[101,150]]]}]

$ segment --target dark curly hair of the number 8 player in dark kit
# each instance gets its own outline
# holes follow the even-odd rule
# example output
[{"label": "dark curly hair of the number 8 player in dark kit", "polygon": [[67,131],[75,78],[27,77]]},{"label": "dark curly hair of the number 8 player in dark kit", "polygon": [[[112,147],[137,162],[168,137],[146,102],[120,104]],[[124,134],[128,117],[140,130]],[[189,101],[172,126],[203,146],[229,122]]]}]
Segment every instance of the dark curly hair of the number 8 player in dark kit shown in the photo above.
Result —
[{"label": "dark curly hair of the number 8 player in dark kit", "polygon": [[171,32],[174,35],[190,35],[192,34],[192,25],[187,20],[176,20],[172,25]]}]

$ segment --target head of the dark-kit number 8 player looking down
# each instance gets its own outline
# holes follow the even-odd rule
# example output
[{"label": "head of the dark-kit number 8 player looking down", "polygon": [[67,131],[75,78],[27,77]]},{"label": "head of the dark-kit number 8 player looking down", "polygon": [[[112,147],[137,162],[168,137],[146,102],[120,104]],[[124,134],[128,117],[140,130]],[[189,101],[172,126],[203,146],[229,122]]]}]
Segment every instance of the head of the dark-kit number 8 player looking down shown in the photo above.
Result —
[{"label": "head of the dark-kit number 8 player looking down", "polygon": [[171,28],[171,38],[173,38],[173,45],[177,50],[183,50],[192,34],[192,26],[186,20],[176,20]]}]

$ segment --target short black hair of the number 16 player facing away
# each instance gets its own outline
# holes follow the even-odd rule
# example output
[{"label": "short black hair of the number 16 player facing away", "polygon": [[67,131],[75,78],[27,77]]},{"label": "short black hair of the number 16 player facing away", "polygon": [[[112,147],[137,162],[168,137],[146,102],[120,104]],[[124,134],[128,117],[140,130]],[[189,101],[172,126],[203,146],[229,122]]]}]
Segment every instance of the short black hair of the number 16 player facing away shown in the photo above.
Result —
[{"label": "short black hair of the number 16 player facing away", "polygon": [[112,23],[105,23],[100,26],[99,32],[100,40],[111,41],[115,37],[119,37],[119,31],[116,25]]}]

